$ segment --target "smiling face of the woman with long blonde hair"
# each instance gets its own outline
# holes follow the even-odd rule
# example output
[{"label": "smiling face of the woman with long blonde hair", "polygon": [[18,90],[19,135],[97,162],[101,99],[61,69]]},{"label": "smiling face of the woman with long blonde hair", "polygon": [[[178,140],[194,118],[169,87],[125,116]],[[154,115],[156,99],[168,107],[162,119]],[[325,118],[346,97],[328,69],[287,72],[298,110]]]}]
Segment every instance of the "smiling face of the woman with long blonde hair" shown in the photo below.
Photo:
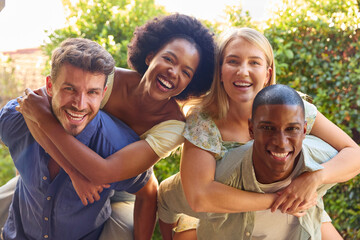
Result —
[{"label": "smiling face of the woman with long blonde hair", "polygon": [[253,101],[271,77],[265,54],[255,45],[238,37],[226,46],[221,66],[221,81],[229,101]]}]

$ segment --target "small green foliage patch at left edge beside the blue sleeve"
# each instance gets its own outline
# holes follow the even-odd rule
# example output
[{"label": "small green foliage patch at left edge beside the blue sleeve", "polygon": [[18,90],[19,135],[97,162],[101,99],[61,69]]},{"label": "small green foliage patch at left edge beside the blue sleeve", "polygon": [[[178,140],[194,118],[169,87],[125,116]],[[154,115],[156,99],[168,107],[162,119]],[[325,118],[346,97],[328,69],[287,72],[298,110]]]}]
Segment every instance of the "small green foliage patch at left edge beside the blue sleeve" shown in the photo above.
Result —
[{"label": "small green foliage patch at left edge beside the blue sleeve", "polygon": [[0,186],[15,177],[15,167],[9,150],[0,142]]}]

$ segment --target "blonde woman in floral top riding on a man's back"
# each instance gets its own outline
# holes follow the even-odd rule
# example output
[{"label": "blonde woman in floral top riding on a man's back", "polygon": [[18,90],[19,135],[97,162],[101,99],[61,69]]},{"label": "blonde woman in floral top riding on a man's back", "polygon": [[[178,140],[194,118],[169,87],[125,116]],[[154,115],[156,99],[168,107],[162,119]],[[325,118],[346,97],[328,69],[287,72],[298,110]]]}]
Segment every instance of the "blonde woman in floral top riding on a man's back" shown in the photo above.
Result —
[{"label": "blonde woman in floral top riding on a man's back", "polygon": [[[360,148],[314,105],[305,102],[308,134],[339,151],[323,164],[324,170],[299,176],[279,196],[245,192],[216,181],[216,161],[229,149],[250,140],[248,119],[253,100],[262,88],[275,83],[275,76],[272,47],[261,33],[250,28],[233,29],[220,39],[210,93],[187,117],[181,180],[177,174],[160,184],[158,212],[164,239],[171,239],[170,229],[176,225],[174,239],[194,237],[194,231],[184,230],[195,229],[197,220],[181,213],[201,218],[204,212],[279,208],[283,213],[296,214],[312,206],[319,184],[343,182],[358,174]],[[330,221],[324,216],[323,239],[341,239]]]}]

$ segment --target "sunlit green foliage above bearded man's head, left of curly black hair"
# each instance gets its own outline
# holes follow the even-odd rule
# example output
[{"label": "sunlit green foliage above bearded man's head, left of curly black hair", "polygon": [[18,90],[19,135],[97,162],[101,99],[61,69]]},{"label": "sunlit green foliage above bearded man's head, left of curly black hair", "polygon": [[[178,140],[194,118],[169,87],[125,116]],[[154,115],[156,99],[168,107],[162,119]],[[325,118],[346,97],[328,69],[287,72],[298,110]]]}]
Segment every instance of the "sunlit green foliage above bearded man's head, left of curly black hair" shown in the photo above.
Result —
[{"label": "sunlit green foliage above bearded man's head, left of curly black hair", "polygon": [[63,0],[63,5],[68,12],[67,26],[49,35],[50,42],[43,46],[46,55],[51,56],[66,38],[83,37],[108,50],[118,67],[127,67],[127,45],[135,28],[165,14],[154,0],[79,0],[75,5]]}]

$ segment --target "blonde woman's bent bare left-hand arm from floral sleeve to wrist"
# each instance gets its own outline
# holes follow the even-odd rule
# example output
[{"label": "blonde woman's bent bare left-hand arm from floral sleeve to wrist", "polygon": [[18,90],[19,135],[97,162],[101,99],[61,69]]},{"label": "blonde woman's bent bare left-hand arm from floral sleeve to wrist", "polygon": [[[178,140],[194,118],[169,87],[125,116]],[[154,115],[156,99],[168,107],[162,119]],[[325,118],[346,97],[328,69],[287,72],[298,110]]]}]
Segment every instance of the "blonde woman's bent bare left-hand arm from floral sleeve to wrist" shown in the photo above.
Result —
[{"label": "blonde woman's bent bare left-hand arm from floral sleeve to wrist", "polygon": [[196,212],[246,212],[270,208],[274,194],[242,191],[216,182],[214,156],[185,140],[181,181],[190,207]]}]

